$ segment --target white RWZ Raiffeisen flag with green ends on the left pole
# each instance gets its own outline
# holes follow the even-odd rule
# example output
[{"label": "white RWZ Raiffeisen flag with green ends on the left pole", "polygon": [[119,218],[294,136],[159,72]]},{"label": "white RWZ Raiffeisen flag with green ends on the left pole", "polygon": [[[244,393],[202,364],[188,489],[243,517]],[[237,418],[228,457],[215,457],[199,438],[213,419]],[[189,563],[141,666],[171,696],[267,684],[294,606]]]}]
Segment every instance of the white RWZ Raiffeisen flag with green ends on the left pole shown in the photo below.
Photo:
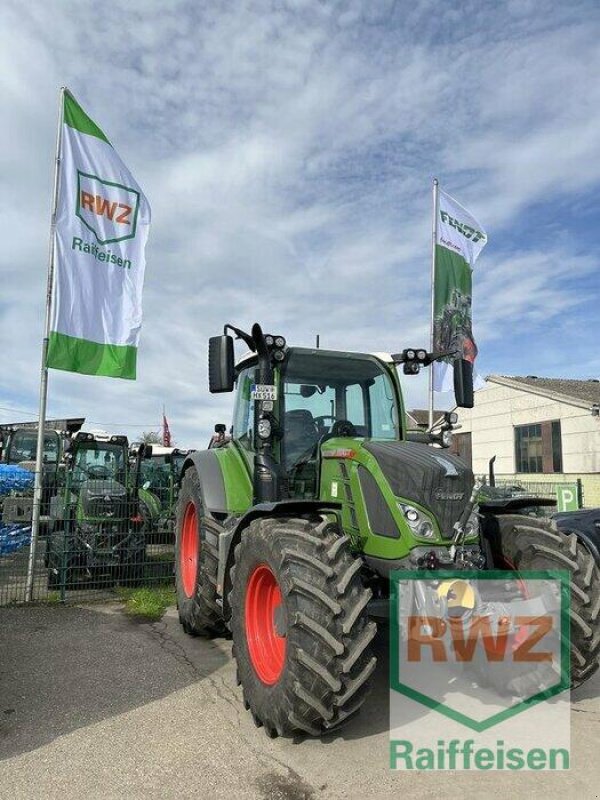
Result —
[{"label": "white RWZ Raiffeisen flag with green ends on the left pole", "polygon": [[135,379],[150,206],[96,123],[63,102],[47,366]]}]

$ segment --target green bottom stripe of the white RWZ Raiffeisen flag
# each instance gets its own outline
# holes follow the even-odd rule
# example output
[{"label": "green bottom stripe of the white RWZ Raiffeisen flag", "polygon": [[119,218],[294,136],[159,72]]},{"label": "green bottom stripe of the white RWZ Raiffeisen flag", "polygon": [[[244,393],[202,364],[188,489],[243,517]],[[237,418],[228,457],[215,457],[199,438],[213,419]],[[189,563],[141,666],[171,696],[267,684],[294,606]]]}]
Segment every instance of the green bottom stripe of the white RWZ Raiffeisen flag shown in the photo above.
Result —
[{"label": "green bottom stripe of the white RWZ Raiffeisen flag", "polygon": [[46,365],[53,369],[135,380],[137,348],[123,344],[100,344],[64,333],[50,333]]}]

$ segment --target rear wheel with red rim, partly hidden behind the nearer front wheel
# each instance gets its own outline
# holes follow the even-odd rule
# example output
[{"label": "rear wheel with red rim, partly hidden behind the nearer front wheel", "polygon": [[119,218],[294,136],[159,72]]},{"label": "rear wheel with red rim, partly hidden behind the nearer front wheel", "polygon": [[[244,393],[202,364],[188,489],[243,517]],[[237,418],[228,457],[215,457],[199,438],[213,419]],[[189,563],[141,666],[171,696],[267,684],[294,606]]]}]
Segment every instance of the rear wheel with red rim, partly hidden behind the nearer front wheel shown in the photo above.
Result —
[{"label": "rear wheel with red rim, partly hidden behind the nearer front wheel", "polygon": [[200,477],[193,467],[181,483],[175,537],[179,621],[190,636],[223,633],[223,615],[217,603],[218,531],[206,517]]}]

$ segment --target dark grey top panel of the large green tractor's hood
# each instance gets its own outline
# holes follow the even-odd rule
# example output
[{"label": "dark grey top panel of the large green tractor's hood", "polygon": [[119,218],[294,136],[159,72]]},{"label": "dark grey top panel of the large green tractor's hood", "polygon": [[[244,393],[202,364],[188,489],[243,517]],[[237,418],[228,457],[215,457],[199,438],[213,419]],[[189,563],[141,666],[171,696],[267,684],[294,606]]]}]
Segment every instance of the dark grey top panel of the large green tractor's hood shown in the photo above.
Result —
[{"label": "dark grey top panel of the large green tractor's hood", "polygon": [[430,509],[444,537],[453,535],[473,491],[473,472],[456,456],[417,442],[366,441],[396,497]]}]

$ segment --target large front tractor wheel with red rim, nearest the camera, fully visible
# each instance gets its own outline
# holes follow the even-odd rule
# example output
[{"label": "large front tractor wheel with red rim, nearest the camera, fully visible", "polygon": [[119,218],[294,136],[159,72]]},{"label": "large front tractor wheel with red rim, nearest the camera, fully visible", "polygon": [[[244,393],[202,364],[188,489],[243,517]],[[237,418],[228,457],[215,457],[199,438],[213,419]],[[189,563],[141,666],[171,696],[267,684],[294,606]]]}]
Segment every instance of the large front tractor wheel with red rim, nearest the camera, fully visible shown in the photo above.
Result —
[{"label": "large front tractor wheel with red rim, nearest the camera, fully visible", "polygon": [[363,704],[376,659],[361,561],[321,516],[257,519],[231,571],[244,705],[269,736],[335,728]]}]

